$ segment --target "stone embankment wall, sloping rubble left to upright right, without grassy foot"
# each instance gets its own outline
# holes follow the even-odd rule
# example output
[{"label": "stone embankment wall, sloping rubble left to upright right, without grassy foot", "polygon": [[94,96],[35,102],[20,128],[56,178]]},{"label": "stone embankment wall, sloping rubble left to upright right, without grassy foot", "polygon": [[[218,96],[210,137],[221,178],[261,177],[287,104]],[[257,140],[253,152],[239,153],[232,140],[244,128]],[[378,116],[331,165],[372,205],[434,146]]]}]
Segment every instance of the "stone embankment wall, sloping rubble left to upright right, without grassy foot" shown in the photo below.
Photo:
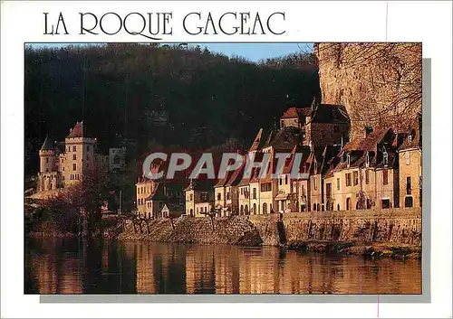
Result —
[{"label": "stone embankment wall, sloping rubble left to upright right, without grassy foot", "polygon": [[128,220],[120,239],[279,246],[292,242],[421,243],[421,210],[310,211],[217,218]]}]

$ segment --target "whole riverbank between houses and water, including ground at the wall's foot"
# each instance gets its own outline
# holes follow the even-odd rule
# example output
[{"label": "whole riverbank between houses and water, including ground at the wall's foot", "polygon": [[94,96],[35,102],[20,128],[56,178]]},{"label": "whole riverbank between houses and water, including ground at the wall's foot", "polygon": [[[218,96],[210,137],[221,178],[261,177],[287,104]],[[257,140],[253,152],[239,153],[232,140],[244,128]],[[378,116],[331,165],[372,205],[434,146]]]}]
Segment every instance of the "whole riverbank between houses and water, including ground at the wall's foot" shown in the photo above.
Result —
[{"label": "whole riverbank between houses and water, including ground at the wall's foot", "polygon": [[[94,237],[199,245],[273,246],[289,250],[421,258],[421,211],[323,211],[205,218],[106,217]],[[30,237],[71,237],[34,231]]]}]

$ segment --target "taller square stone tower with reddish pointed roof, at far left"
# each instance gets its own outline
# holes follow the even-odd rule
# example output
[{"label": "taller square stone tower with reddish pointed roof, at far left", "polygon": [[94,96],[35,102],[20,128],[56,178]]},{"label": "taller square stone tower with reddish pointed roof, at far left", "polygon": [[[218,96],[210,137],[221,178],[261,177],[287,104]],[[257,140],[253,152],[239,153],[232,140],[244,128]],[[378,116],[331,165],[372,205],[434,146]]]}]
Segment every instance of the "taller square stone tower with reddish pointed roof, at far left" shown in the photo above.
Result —
[{"label": "taller square stone tower with reddish pointed roof, at far left", "polygon": [[64,140],[64,158],[61,159],[63,186],[71,186],[82,181],[83,174],[88,174],[95,165],[94,147],[96,139],[88,137],[83,122],[70,130]]}]

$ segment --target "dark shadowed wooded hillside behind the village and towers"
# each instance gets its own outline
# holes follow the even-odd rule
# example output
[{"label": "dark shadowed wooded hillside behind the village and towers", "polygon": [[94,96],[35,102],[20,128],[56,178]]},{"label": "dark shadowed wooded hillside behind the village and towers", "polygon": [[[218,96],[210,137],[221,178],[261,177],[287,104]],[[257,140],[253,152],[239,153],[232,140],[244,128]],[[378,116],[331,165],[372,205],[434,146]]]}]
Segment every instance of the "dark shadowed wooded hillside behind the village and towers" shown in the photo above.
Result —
[{"label": "dark shadowed wooded hillside behind the village and towers", "polygon": [[319,96],[312,54],[261,63],[187,45],[108,44],[25,51],[25,169],[46,134],[83,120],[101,150],[126,142],[129,160],[157,145],[248,146],[290,105]]}]

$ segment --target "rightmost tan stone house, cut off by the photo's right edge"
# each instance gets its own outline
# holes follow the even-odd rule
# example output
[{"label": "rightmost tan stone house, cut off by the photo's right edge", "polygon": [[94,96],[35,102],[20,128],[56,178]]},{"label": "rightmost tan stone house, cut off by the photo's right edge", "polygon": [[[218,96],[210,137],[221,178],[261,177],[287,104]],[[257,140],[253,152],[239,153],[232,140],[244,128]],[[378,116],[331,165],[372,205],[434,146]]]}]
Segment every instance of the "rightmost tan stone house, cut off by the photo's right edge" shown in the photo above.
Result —
[{"label": "rightmost tan stone house, cut off by the photo's right edge", "polygon": [[400,163],[400,208],[421,207],[422,154],[421,115],[413,122],[409,134],[398,149]]}]

